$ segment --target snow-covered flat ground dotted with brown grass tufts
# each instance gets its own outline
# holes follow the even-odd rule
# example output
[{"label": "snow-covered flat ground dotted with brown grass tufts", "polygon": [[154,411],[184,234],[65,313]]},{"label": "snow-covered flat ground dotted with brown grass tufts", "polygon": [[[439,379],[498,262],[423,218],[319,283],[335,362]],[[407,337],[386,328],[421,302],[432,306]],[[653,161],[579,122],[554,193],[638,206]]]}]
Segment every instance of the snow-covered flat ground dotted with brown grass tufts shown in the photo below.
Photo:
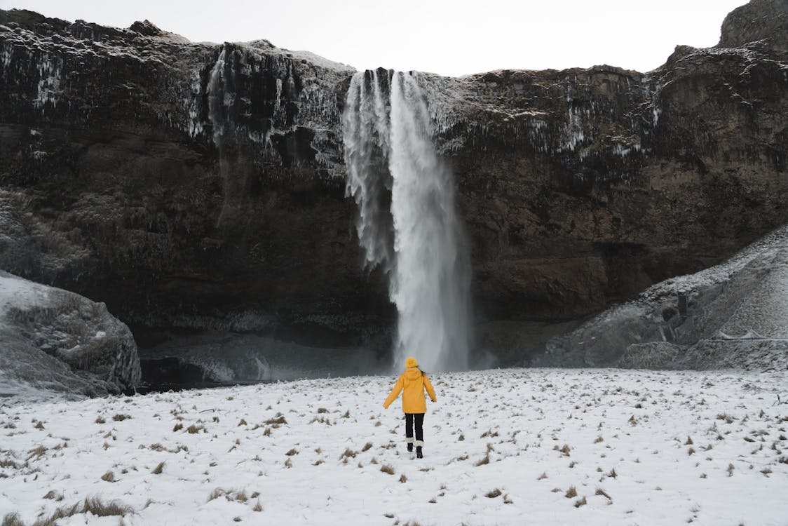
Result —
[{"label": "snow-covered flat ground dotted with brown grass tufts", "polygon": [[7,398],[0,517],[98,497],[127,525],[788,524],[786,371],[434,375],[422,460],[393,382]]}]

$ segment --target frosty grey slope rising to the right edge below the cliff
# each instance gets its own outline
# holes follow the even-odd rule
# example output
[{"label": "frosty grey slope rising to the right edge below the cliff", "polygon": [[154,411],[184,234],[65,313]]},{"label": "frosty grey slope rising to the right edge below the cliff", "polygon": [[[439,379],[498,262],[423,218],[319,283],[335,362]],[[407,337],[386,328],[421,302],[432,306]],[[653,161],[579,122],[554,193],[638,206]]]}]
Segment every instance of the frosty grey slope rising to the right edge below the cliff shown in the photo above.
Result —
[{"label": "frosty grey slope rising to the right edge below the cliff", "polygon": [[788,226],[552,338],[532,365],[788,369]]}]

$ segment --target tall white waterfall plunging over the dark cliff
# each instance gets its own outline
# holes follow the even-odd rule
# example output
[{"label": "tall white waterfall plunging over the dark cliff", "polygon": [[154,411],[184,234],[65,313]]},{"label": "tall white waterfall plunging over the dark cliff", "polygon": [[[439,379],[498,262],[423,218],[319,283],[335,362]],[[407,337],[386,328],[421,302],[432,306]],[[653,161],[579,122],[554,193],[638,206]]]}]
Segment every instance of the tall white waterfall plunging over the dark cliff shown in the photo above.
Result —
[{"label": "tall white waterfall plunging over the dark cliff", "polygon": [[368,266],[388,272],[399,314],[396,364],[463,370],[470,339],[470,271],[451,170],[433,147],[413,74],[356,73],[343,114],[348,195],[359,207]]}]

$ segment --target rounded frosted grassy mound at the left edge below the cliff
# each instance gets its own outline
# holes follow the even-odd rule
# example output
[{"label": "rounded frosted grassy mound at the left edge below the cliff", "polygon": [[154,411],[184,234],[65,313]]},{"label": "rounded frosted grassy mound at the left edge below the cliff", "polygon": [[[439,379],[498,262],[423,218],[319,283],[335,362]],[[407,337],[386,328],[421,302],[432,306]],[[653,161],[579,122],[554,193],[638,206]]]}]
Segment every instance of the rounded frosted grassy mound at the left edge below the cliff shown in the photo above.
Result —
[{"label": "rounded frosted grassy mound at the left edge below the cliff", "polygon": [[132,333],[105,304],[0,271],[0,396],[117,393],[140,375]]}]

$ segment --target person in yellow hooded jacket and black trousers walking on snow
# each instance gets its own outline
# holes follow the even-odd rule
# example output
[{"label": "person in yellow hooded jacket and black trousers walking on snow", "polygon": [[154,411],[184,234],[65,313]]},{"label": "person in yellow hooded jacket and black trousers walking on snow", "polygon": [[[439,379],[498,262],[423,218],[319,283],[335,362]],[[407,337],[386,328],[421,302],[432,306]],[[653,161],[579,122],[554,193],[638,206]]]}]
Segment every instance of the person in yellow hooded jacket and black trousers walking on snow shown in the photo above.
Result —
[{"label": "person in yellow hooded jacket and black trousers walking on snow", "polygon": [[[392,392],[383,402],[383,407],[388,409],[392,401],[400,396],[402,391],[402,410],[405,413],[405,439],[407,450],[413,451],[416,446],[416,457],[423,458],[422,447],[424,446],[424,413],[427,412],[427,402],[424,391],[429,394],[430,400],[437,401],[433,384],[429,382],[427,375],[418,368],[418,362],[413,356],[405,360],[405,372],[397,379]],[[416,424],[416,439],[413,438],[413,424]]]}]

